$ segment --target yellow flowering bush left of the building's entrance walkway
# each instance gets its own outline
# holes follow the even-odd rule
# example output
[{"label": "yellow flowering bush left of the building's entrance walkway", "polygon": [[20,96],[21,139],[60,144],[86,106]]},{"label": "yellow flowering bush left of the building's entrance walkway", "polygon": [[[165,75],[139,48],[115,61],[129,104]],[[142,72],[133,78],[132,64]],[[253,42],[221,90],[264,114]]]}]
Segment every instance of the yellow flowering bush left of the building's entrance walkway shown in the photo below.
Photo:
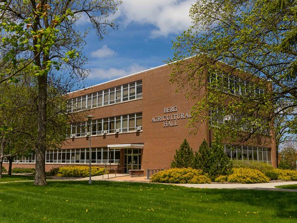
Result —
[{"label": "yellow flowering bush left of the building's entrance walkway", "polygon": [[[103,167],[96,167],[91,169],[92,176],[98,176],[107,174],[108,171],[105,171]],[[88,166],[68,166],[68,167],[59,167],[57,176],[68,176],[68,177],[87,177],[89,176],[89,167]]]}]

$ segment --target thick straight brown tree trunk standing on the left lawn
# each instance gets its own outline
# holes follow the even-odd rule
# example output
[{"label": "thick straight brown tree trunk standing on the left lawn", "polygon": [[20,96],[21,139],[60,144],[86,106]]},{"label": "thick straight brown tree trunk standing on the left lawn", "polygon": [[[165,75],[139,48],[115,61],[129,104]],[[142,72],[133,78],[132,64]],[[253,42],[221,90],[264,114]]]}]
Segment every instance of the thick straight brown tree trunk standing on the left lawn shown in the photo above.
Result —
[{"label": "thick straight brown tree trunk standing on the left lawn", "polygon": [[38,79],[38,136],[36,144],[35,179],[34,184],[47,185],[46,180],[46,123],[47,123],[47,81],[48,75],[44,74]]}]

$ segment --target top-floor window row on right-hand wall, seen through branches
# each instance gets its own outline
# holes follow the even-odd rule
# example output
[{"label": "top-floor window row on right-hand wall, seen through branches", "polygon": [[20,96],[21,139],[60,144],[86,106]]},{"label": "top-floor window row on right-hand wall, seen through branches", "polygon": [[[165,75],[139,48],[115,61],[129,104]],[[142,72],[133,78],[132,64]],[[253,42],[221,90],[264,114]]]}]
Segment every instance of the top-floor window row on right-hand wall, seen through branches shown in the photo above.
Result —
[{"label": "top-floor window row on right-hand wall, seen through branches", "polygon": [[264,89],[255,86],[253,82],[234,75],[213,73],[209,76],[209,82],[223,92],[237,96],[258,97],[260,94],[264,94]]}]

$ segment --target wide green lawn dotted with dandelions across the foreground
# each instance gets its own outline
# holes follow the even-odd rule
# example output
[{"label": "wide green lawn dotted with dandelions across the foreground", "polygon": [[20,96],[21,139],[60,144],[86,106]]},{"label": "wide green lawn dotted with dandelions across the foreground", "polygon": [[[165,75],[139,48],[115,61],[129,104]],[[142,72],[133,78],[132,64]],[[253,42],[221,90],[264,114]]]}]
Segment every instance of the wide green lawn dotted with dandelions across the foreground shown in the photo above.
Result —
[{"label": "wide green lawn dotted with dandelions across the foreground", "polygon": [[297,194],[148,183],[0,184],[0,222],[297,222]]}]

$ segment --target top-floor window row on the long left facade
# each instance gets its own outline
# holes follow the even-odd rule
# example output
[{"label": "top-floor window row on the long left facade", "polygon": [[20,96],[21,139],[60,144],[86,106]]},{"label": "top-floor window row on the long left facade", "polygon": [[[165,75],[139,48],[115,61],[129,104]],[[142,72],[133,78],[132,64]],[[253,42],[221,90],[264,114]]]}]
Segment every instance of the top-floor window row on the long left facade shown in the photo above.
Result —
[{"label": "top-floor window row on the long left facade", "polygon": [[142,98],[142,80],[67,100],[68,112],[83,111]]}]

